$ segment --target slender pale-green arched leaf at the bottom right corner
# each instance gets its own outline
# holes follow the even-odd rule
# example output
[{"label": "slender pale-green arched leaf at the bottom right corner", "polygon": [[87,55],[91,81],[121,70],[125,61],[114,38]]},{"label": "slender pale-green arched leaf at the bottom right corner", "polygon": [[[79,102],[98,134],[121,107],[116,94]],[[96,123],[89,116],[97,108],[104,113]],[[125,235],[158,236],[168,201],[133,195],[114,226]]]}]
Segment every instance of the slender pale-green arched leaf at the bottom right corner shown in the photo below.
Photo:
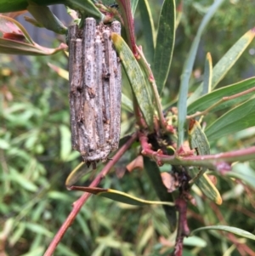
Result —
[{"label": "slender pale-green arched leaf at the bottom right corner", "polygon": [[190,236],[193,236],[196,232],[201,231],[201,230],[222,230],[222,231],[227,231],[229,233],[232,233],[232,234],[235,234],[238,236],[242,236],[242,237],[246,237],[246,238],[255,240],[255,236],[252,233],[247,232],[246,230],[241,230],[239,228],[226,226],[226,225],[209,225],[207,227],[202,227],[202,228],[193,230],[191,232]]}]

